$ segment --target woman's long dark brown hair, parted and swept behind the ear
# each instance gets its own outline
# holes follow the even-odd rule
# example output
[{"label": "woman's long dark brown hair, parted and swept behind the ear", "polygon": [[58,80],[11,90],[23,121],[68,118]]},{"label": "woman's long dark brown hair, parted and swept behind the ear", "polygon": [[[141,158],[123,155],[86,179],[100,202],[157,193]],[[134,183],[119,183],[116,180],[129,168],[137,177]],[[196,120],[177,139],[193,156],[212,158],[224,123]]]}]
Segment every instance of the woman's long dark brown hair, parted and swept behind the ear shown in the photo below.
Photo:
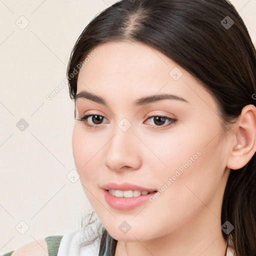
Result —
[{"label": "woman's long dark brown hair, parted and swept behind the ear", "polygon": [[[107,41],[143,42],[191,73],[217,102],[223,127],[247,104],[255,105],[256,52],[247,28],[227,0],[121,0],[84,28],[67,68],[75,99],[77,65]],[[256,158],[231,170],[225,187],[221,223],[229,221],[235,255],[256,255]],[[222,232],[226,239],[226,233]],[[99,255],[114,255],[116,240],[104,229]]]}]

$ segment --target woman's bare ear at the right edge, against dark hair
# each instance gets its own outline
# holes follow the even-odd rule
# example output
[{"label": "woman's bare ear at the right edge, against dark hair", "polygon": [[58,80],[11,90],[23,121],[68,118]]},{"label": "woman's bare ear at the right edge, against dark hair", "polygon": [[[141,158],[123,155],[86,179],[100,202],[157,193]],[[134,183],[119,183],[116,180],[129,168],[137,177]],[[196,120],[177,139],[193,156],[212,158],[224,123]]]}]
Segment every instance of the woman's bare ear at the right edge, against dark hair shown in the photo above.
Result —
[{"label": "woman's bare ear at the right edge, against dark hair", "polygon": [[234,139],[226,166],[239,169],[247,164],[256,150],[256,107],[252,104],[242,108],[235,129]]}]

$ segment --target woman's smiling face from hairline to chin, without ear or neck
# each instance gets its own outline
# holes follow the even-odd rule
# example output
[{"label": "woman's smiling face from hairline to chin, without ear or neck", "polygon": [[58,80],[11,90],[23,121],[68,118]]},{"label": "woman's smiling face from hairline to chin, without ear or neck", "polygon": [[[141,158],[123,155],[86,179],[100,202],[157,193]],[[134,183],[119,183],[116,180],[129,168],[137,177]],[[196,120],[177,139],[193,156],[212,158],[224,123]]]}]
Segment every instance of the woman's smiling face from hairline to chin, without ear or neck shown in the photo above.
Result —
[{"label": "woman's smiling face from hairline to chin, without ear or neck", "polygon": [[[78,75],[77,95],[84,93],[76,97],[72,148],[84,192],[109,234],[142,241],[198,225],[220,232],[229,142],[213,97],[145,44],[108,42],[93,52]],[[78,120],[84,115],[91,116]],[[133,192],[143,189],[150,194]]]}]

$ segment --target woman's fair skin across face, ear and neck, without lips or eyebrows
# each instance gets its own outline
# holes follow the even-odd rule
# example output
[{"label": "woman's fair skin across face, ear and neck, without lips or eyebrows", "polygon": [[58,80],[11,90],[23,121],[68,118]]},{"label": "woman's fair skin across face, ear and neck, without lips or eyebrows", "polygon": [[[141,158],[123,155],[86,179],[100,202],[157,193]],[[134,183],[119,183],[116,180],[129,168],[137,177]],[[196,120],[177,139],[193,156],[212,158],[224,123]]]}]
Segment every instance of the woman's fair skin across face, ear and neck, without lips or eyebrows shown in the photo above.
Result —
[{"label": "woman's fair skin across face, ear and neck, without lips or eyebrows", "polygon": [[[230,168],[244,166],[255,151],[255,107],[245,106],[224,134],[213,97],[173,60],[138,42],[107,42],[97,49],[80,69],[77,93],[101,96],[108,106],[76,99],[72,148],[84,192],[118,240],[115,256],[223,256],[222,196]],[[169,75],[174,67],[183,73],[176,81]],[[164,99],[132,105],[160,93],[188,103]],[[77,120],[85,113],[105,118],[100,123],[89,117],[96,128],[88,128]],[[147,115],[177,121],[160,125]],[[125,132],[118,127],[123,118],[131,123]],[[154,202],[122,211],[105,201],[101,186],[110,181],[161,189],[197,151],[197,159]],[[122,221],[131,226],[125,234],[118,228]]]}]

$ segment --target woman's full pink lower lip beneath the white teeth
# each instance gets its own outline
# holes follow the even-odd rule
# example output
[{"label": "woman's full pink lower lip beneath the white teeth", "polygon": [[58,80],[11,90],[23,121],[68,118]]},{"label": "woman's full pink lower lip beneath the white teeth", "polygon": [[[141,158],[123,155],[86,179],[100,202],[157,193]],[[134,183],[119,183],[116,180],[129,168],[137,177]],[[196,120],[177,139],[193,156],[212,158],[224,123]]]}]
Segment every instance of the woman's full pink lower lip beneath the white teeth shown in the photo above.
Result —
[{"label": "woman's full pink lower lip beneath the white teeth", "polygon": [[135,197],[116,197],[104,189],[104,193],[105,193],[104,196],[105,196],[106,202],[111,207],[117,210],[131,210],[143,204],[144,202],[149,201],[149,197],[156,192],[157,191],[146,194],[146,195],[139,195]]}]

